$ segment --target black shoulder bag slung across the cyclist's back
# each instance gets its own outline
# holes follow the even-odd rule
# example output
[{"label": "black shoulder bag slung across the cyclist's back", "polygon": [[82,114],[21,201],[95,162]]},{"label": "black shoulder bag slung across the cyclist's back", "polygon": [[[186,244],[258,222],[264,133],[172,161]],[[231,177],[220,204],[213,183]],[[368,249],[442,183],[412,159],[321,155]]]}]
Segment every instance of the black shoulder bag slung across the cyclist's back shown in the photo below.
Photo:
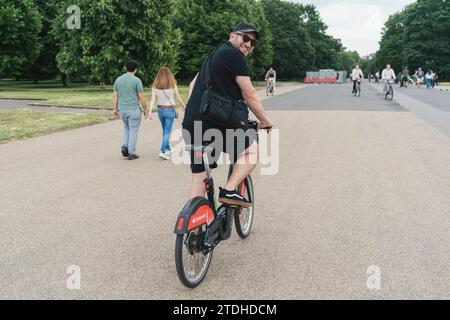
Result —
[{"label": "black shoulder bag slung across the cyclist's back", "polygon": [[200,113],[206,120],[218,128],[245,128],[248,121],[248,108],[244,100],[233,100],[214,92],[211,86],[211,58],[217,48],[205,62],[205,90],[201,97]]}]

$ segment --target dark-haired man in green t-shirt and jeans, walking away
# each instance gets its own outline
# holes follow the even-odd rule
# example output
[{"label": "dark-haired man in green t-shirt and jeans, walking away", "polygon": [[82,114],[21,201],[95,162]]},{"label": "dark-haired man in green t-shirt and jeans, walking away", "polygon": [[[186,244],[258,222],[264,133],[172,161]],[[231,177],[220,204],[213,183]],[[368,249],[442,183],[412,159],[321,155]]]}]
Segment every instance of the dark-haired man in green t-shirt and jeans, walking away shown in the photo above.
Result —
[{"label": "dark-haired man in green t-shirt and jeans, walking away", "polygon": [[115,118],[123,121],[122,155],[128,160],[138,159],[136,144],[139,127],[141,126],[141,107],[144,116],[148,116],[147,100],[144,96],[144,87],[141,79],[136,77],[138,63],[130,60],[126,64],[127,73],[123,74],[114,82],[114,111]]}]

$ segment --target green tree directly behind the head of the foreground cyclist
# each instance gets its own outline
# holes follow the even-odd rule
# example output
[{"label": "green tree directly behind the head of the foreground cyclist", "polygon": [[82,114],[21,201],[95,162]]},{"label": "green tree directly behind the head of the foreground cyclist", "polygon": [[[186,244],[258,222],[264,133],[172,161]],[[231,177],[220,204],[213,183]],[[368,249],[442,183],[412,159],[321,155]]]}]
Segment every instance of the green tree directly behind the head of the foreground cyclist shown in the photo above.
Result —
[{"label": "green tree directly behind the head of the foreground cyclist", "polygon": [[272,62],[271,33],[259,2],[255,0],[179,0],[174,26],[183,33],[180,49],[182,79],[192,79],[203,60],[228,36],[239,22],[256,26],[261,39],[247,60],[250,73],[261,77]]}]

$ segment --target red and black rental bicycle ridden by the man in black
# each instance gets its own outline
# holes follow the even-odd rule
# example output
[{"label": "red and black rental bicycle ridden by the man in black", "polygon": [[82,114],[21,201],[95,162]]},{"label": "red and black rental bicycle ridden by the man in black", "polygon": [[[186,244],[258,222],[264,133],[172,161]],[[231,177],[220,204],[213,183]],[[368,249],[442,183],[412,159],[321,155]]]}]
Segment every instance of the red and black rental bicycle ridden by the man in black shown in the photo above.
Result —
[{"label": "red and black rental bicycle ridden by the man in black", "polygon": [[[249,121],[249,129],[257,130],[258,122]],[[197,287],[205,278],[211,264],[214,248],[231,236],[232,221],[241,238],[247,238],[253,224],[254,192],[252,178],[248,176],[238,187],[238,192],[251,207],[243,208],[222,204],[217,207],[214,197],[214,180],[211,176],[210,146],[186,146],[186,150],[203,157],[206,168],[204,180],[207,198],[189,200],[181,210],[175,224],[175,265],[178,278],[189,288]],[[231,176],[233,165],[228,170]]]}]

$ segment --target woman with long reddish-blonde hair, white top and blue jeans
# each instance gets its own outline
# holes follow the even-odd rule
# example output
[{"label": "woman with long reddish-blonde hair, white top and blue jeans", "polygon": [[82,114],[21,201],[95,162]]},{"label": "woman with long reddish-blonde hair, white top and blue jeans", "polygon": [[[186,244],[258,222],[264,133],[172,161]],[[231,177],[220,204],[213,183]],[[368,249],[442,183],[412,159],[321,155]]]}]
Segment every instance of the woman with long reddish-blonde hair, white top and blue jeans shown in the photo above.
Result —
[{"label": "woman with long reddish-blonde hair, white top and blue jeans", "polygon": [[163,141],[159,156],[163,159],[170,159],[170,145],[169,138],[172,132],[173,121],[176,116],[175,111],[175,97],[183,106],[183,110],[186,109],[186,105],[180,96],[177,88],[177,81],[173,76],[173,73],[167,67],[159,69],[156,75],[155,81],[152,85],[152,98],[150,101],[150,113],[153,110],[155,101],[158,100],[158,116],[161,121],[163,131]]}]

